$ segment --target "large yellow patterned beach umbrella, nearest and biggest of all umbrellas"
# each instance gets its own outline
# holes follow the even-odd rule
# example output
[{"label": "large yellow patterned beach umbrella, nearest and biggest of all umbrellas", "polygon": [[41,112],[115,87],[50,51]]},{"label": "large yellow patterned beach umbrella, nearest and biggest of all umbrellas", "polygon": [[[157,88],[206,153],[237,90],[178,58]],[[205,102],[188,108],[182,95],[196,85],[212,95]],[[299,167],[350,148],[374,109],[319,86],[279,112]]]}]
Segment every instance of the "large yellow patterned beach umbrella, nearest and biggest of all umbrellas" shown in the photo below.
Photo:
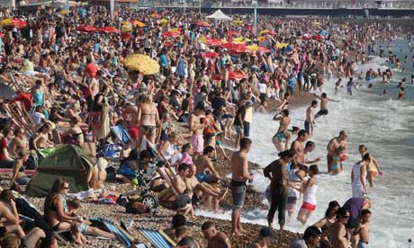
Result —
[{"label": "large yellow patterned beach umbrella, nearest and biggest of all umbrellas", "polygon": [[159,64],[156,60],[143,54],[133,54],[122,61],[124,66],[131,70],[136,70],[144,75],[157,74],[159,71]]}]

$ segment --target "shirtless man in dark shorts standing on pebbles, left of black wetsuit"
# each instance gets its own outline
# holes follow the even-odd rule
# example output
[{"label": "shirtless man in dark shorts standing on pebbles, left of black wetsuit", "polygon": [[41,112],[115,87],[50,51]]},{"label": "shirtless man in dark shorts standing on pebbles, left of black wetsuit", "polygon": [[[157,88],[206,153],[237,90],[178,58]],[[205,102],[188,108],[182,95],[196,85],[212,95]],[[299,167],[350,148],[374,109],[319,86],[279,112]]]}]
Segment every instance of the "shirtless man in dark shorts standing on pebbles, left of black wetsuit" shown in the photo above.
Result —
[{"label": "shirtless man in dark shorts standing on pebbles, left of black wetsuit", "polygon": [[231,156],[231,196],[233,198],[233,212],[231,214],[232,235],[242,235],[243,228],[240,222],[241,208],[246,197],[246,182],[253,181],[253,174],[248,173],[247,153],[250,151],[251,139],[243,137],[240,140],[240,150]]}]

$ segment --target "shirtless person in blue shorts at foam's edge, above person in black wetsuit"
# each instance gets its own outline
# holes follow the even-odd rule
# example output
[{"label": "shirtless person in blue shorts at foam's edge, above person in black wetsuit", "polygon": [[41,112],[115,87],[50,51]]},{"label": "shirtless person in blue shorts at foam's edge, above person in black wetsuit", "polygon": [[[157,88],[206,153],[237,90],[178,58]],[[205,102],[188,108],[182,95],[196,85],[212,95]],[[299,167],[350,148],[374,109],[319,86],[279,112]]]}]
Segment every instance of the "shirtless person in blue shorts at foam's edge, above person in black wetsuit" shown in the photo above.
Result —
[{"label": "shirtless person in blue shorts at foam's edge, above person in black wetsuit", "polygon": [[289,124],[291,124],[289,110],[282,111],[282,115],[279,117],[276,114],[273,120],[279,120],[279,128],[272,138],[272,141],[276,149],[279,152],[283,152],[289,146],[289,141],[292,137],[292,134],[289,132]]}]

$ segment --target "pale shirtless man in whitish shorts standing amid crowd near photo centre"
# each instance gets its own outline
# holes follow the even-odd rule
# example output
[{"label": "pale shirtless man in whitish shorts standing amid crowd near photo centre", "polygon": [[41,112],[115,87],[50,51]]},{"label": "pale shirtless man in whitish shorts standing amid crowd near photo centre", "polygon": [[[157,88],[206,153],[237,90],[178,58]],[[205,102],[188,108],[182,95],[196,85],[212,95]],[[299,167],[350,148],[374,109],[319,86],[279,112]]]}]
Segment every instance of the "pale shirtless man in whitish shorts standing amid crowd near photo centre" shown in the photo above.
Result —
[{"label": "pale shirtless man in whitish shorts standing amid crowd near photo centre", "polygon": [[193,155],[197,157],[202,155],[202,150],[204,148],[204,139],[202,137],[202,130],[204,129],[204,124],[202,117],[204,116],[205,108],[202,104],[199,104],[195,107],[195,110],[190,116],[189,120],[189,129],[192,132],[193,136],[191,137],[191,146],[193,146]]}]

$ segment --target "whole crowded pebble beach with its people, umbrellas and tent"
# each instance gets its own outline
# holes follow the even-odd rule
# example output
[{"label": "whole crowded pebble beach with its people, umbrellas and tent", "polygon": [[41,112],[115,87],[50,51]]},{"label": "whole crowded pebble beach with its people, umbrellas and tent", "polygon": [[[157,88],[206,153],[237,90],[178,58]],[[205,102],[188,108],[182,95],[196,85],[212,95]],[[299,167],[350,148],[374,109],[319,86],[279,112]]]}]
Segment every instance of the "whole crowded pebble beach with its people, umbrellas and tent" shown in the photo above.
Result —
[{"label": "whole crowded pebble beach with its people, umbrellas and tent", "polygon": [[[102,6],[1,16],[1,247],[370,247],[381,162],[348,147],[346,129],[328,144],[312,137],[341,93],[392,81],[391,68],[356,66],[388,49],[405,69],[410,58],[383,45],[400,27]],[[405,84],[414,75],[390,97],[403,101]],[[247,156],[263,113],[277,131],[266,140],[275,161],[260,169]],[[318,174],[344,173],[348,149],[360,153],[352,198],[318,205]],[[256,208],[267,226],[241,221]],[[326,214],[311,223],[316,208]]]}]

